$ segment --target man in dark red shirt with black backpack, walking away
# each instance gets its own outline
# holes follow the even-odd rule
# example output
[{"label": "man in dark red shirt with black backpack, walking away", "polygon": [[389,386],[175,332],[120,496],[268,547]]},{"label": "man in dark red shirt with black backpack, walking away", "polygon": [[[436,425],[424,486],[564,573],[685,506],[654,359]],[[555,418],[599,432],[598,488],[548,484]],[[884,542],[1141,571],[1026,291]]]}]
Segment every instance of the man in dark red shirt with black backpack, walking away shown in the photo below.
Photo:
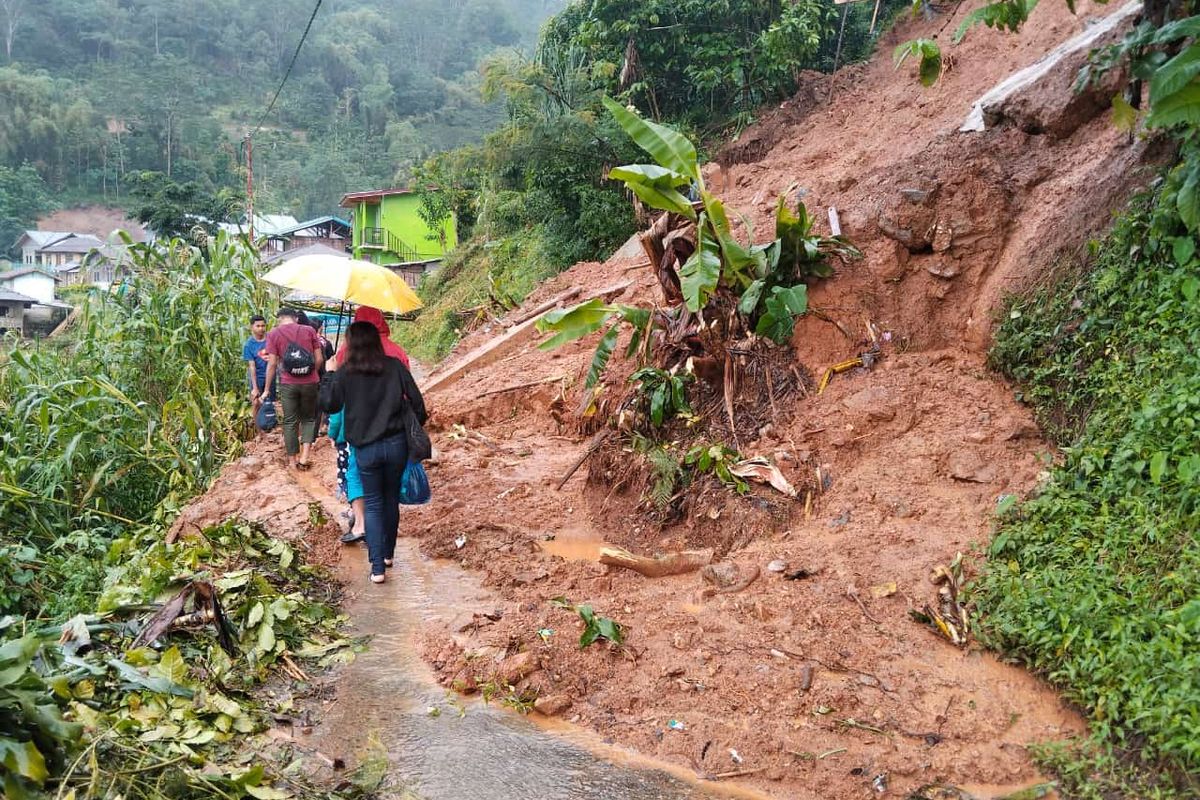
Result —
[{"label": "man in dark red shirt with black backpack, walking away", "polygon": [[317,331],[296,323],[296,312],[281,308],[278,324],[266,335],[266,385],[280,375],[283,402],[283,445],[296,469],[308,469],[308,452],[317,438],[318,372],[325,365]]}]

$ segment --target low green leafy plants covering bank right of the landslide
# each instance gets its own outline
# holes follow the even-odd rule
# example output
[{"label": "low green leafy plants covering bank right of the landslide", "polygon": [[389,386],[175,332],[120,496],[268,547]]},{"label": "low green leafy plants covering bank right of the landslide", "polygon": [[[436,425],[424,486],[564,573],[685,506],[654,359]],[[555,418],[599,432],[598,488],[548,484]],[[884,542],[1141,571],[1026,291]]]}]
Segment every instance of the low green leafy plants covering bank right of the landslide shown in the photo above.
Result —
[{"label": "low green leafy plants covering bank right of the landslide", "polygon": [[1200,259],[1153,196],[1092,255],[1000,325],[992,366],[1062,459],[1002,517],[973,593],[985,642],[1087,714],[1088,742],[1044,753],[1072,796],[1195,796]]}]

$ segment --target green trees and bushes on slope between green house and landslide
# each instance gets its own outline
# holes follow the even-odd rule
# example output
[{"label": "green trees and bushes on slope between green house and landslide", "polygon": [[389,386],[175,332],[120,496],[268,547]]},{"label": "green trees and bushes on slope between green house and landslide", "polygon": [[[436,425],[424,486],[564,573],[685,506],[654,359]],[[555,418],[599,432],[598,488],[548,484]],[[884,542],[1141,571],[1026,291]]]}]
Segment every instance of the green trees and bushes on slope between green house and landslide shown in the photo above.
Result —
[{"label": "green trees and bushes on slope between green house and landslide", "polygon": [[[904,5],[884,2],[881,18]],[[487,59],[484,100],[504,101],[504,124],[418,169],[420,182],[454,187],[430,196],[428,211],[452,211],[468,236],[421,288],[427,307],[402,332],[406,344],[440,359],[464,321],[505,311],[571,264],[607,258],[634,233],[635,209],[606,173],[640,151],[602,108],[605,96],[720,144],[810,80],[806,70],[870,53],[883,26],[870,32],[869,4],[842,6],[844,31],[835,8],[588,0],[551,18],[532,59]]]}]

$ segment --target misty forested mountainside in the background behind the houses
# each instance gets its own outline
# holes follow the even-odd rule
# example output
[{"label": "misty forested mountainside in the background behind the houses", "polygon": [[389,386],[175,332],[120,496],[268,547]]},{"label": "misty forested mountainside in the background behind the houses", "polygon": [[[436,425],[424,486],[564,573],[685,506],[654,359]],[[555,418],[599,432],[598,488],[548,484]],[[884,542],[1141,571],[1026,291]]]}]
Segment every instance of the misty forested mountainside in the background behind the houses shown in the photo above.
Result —
[{"label": "misty forested mountainside in the background behind the houses", "polygon": [[480,59],[530,48],[563,4],[329,0],[264,118],[313,5],[4,0],[0,166],[34,166],[59,204],[125,204],[145,170],[240,188],[262,121],[258,206],[326,213],[493,128],[503,108],[480,98]]}]

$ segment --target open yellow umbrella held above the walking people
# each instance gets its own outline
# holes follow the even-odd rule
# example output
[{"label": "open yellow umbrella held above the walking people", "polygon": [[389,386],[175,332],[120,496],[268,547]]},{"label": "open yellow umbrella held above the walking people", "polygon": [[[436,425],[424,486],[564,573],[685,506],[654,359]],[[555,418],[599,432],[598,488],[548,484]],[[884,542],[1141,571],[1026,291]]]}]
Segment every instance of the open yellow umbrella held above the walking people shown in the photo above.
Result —
[{"label": "open yellow umbrella held above the walking people", "polygon": [[300,255],[280,264],[263,279],[288,289],[359,306],[374,306],[397,314],[424,305],[404,278],[385,266],[353,258]]}]

